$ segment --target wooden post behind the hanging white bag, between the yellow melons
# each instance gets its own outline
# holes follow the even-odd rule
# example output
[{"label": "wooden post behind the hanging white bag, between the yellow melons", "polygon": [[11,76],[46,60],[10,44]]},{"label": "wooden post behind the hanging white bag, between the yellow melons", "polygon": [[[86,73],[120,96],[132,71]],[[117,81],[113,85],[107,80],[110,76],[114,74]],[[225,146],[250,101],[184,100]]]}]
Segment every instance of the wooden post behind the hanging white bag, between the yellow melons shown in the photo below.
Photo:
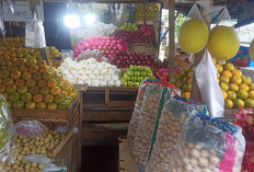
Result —
[{"label": "wooden post behind the hanging white bag, between the yellow melons", "polygon": [[[206,22],[206,24],[208,26],[208,30],[210,28],[211,15],[205,15],[205,14],[207,14],[210,11],[210,9],[213,7],[213,0],[209,0],[209,1],[210,1],[210,3],[209,3],[210,7],[209,8],[205,9],[205,8],[201,7],[203,19],[205,20],[205,22]],[[201,51],[194,55],[195,56],[194,67],[196,67],[200,62],[204,54],[205,54],[205,49],[203,49]],[[193,71],[193,84],[192,84],[192,94],[190,95],[192,95],[192,99],[201,102],[201,93],[200,93],[200,91],[198,89],[194,71]]]}]

